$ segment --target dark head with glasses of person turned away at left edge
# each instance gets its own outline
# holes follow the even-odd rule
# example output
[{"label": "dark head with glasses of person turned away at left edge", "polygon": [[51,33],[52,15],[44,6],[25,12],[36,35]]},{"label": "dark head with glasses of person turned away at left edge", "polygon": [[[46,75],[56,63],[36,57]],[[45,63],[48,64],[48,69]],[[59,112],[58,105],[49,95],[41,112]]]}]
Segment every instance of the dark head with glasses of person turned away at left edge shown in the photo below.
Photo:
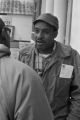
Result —
[{"label": "dark head with glasses of person turned away at left edge", "polygon": [[9,28],[5,26],[4,21],[0,18],[0,44],[10,48],[10,36],[7,31],[9,31]]}]

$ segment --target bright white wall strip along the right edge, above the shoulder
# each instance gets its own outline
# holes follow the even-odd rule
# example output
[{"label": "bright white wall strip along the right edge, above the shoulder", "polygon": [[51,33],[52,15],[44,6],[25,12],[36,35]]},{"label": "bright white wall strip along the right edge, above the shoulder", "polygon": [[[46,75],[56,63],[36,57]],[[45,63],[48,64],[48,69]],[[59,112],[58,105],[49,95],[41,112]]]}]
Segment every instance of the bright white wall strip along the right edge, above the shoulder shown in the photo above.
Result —
[{"label": "bright white wall strip along the right edge, above the shoulder", "polygon": [[80,53],[80,0],[73,0],[70,45]]}]

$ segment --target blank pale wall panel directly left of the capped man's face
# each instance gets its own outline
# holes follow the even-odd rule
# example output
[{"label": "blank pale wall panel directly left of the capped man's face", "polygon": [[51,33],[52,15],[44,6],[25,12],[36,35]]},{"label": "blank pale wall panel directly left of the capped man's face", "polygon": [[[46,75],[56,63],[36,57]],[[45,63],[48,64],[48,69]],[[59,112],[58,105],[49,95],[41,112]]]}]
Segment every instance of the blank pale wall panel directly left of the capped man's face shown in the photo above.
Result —
[{"label": "blank pale wall panel directly left of the capped man's face", "polygon": [[27,40],[31,39],[32,32],[32,16],[12,16],[12,25],[15,26],[15,40]]}]

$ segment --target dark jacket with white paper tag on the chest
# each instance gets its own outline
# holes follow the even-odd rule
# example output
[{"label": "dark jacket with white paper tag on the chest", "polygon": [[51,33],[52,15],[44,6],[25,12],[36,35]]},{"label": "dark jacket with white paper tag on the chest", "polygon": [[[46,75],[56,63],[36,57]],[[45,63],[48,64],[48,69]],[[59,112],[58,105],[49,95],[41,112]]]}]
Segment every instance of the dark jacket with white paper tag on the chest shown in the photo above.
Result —
[{"label": "dark jacket with white paper tag on the chest", "polygon": [[[35,45],[21,50],[19,60],[34,69]],[[56,42],[56,49],[44,69],[42,81],[55,120],[80,120],[80,55],[78,52],[70,46]]]}]

